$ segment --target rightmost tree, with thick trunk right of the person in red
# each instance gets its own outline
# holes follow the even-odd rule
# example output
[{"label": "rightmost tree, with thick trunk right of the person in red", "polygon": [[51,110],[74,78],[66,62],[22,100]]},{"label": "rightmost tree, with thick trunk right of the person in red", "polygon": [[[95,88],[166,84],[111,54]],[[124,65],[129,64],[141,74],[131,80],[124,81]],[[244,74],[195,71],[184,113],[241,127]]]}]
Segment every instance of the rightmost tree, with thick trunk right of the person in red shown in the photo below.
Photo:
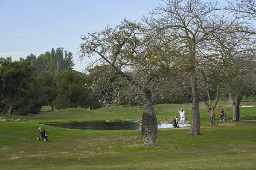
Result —
[{"label": "rightmost tree, with thick trunk right of the person in red", "polygon": [[227,22],[225,29],[212,34],[214,40],[211,41],[211,47],[206,46],[208,53],[214,51],[206,60],[211,63],[208,67],[218,70],[215,76],[229,95],[233,120],[240,119],[239,105],[247,86],[245,82],[256,71],[252,66],[255,61],[255,38],[244,32],[241,29],[243,26],[238,23]]}]

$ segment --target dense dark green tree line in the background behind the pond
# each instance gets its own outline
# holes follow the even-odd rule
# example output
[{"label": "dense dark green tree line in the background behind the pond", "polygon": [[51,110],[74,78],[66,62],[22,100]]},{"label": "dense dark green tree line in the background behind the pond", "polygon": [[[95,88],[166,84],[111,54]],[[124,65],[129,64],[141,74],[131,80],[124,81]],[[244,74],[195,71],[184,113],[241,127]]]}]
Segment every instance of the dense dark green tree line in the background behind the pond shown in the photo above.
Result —
[{"label": "dense dark green tree line in the background behind the pond", "polygon": [[[72,53],[61,51],[63,48],[57,48],[56,52],[52,48],[52,55],[48,55],[48,51],[38,57],[30,54],[19,61],[12,61],[12,57],[0,58],[0,113],[38,114],[43,105],[50,105],[52,111],[54,108],[76,107],[92,110],[114,104],[131,107],[143,105],[138,96],[130,97],[130,86],[118,74],[105,79],[105,83],[110,83],[111,87],[102,85],[99,93],[95,93],[93,87],[102,79],[100,76],[108,69],[107,65],[97,65],[87,73],[74,71]],[[58,53],[63,57],[52,59],[57,58]],[[66,54],[70,54],[69,65],[67,57],[64,57]],[[53,61],[57,62],[52,64]],[[114,90],[116,85],[119,86],[118,93]],[[172,96],[162,94],[155,104],[190,102],[190,90],[183,88],[181,91]],[[116,96],[119,96],[118,101]]]}]

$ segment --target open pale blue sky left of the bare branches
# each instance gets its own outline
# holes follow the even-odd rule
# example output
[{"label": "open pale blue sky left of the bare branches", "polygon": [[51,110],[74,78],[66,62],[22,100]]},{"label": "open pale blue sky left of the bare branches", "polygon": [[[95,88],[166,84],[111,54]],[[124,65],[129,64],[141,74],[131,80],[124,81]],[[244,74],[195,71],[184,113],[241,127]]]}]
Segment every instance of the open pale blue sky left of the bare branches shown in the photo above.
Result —
[{"label": "open pale blue sky left of the bare branches", "polygon": [[139,20],[159,3],[163,1],[0,0],[0,57],[38,57],[63,47],[73,53],[74,69],[82,71],[87,61],[78,61],[81,35],[118,25],[123,18]]}]

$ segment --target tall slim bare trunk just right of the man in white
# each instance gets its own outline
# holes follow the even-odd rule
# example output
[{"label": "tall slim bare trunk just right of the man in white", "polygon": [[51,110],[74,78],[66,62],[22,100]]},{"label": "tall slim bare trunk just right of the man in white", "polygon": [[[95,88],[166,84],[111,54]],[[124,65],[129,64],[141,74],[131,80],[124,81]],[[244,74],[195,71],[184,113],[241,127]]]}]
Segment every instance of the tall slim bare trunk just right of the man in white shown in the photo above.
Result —
[{"label": "tall slim bare trunk just right of the man in white", "polygon": [[192,70],[191,75],[191,87],[192,87],[192,113],[191,113],[191,128],[187,135],[200,135],[200,113],[199,113],[199,94],[198,94],[198,82],[195,68]]}]

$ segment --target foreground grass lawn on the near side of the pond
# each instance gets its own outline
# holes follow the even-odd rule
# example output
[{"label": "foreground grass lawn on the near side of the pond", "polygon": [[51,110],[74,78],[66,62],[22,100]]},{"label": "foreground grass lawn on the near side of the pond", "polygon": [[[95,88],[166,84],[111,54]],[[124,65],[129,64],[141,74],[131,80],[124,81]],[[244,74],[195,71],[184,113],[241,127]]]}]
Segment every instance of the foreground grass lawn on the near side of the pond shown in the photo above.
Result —
[{"label": "foreground grass lawn on the near side of the pond", "polygon": [[[36,141],[34,123],[1,122],[1,170],[254,170],[256,121],[159,129],[156,147],[141,147],[140,130],[72,130],[44,125],[49,141]],[[171,168],[171,169],[172,169]]]}]

